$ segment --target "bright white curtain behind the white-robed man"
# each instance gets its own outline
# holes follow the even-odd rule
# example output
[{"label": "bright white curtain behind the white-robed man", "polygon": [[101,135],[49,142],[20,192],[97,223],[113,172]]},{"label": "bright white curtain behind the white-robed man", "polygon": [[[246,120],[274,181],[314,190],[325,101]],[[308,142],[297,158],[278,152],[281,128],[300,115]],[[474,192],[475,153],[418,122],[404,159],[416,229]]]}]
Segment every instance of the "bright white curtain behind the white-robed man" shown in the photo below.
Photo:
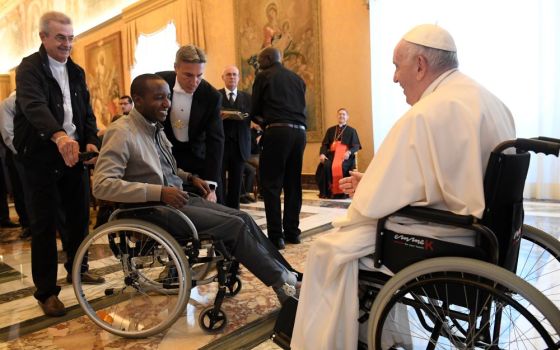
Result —
[{"label": "bright white curtain behind the white-robed man", "polygon": [[[394,84],[393,49],[417,24],[447,29],[459,69],[512,111],[518,137],[560,138],[560,2],[376,0],[370,2],[375,147],[409,106]],[[533,156],[525,196],[560,199],[560,160]]]}]

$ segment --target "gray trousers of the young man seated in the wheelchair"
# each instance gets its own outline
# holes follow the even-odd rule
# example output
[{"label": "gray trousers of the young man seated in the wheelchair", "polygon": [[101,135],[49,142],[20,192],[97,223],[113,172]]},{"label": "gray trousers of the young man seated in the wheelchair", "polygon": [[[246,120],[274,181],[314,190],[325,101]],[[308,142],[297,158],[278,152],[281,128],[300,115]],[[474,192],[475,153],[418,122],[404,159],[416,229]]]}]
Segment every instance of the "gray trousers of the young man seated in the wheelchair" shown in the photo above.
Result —
[{"label": "gray trousers of the young man seated in the wheelchair", "polygon": [[221,240],[229,254],[267,286],[278,287],[294,278],[295,270],[249,214],[200,197],[191,197],[180,210],[199,234]]}]

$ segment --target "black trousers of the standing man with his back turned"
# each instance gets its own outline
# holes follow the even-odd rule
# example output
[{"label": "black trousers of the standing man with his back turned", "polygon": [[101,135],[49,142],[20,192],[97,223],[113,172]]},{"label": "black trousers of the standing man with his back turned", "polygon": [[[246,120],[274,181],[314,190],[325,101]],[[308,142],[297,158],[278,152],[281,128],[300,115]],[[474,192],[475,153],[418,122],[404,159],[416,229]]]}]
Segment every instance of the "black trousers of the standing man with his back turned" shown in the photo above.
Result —
[{"label": "black trousers of the standing man with his back turned", "polygon": [[[297,237],[301,212],[301,168],[306,144],[305,130],[267,128],[261,139],[259,180],[266,212],[268,237]],[[284,218],[280,194],[284,189]],[[284,232],[282,232],[284,229]]]}]

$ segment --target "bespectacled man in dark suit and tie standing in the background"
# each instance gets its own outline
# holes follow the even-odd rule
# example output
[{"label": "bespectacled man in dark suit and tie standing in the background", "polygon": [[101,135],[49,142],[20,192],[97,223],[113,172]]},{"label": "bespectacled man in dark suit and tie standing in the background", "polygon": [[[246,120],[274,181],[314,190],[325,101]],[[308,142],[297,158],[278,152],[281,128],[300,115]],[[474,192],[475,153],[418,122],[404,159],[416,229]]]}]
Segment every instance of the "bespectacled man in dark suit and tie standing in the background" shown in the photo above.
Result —
[{"label": "bespectacled man in dark suit and tie standing in the background", "polygon": [[248,114],[251,109],[251,95],[237,90],[239,69],[236,66],[227,66],[222,74],[222,80],[225,85],[223,89],[219,90],[222,94],[222,118],[224,119],[225,134],[222,193],[225,205],[239,209],[243,167],[251,155],[251,120],[246,117],[240,119],[239,114],[231,117],[232,114],[224,112],[239,111],[241,114]]}]

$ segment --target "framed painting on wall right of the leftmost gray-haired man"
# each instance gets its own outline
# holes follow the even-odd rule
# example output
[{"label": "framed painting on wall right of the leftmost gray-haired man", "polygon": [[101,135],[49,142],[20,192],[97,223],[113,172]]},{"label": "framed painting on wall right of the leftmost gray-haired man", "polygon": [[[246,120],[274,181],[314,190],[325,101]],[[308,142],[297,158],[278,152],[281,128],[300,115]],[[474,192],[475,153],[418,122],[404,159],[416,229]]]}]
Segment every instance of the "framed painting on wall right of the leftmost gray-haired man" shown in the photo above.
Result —
[{"label": "framed painting on wall right of the leftmost gray-haired man", "polygon": [[119,114],[124,91],[120,32],[85,47],[85,71],[97,127],[104,130]]}]

